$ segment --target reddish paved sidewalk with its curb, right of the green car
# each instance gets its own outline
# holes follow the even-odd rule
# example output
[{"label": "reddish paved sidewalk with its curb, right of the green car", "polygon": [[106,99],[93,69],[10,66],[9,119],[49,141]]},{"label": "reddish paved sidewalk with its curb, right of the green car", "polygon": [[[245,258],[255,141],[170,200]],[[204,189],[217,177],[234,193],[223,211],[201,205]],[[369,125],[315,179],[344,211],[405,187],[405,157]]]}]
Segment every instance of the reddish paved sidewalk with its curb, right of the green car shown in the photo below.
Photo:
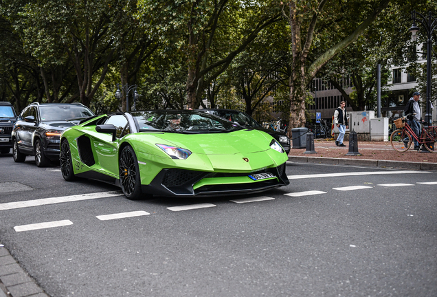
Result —
[{"label": "reddish paved sidewalk with its curb, right of the green car", "polygon": [[[316,153],[305,153],[306,148],[291,148],[289,161],[321,164],[342,164],[374,167],[407,168],[412,170],[437,170],[437,153],[422,153],[412,148],[405,153],[394,151],[390,142],[358,142],[361,155],[346,155],[346,147],[335,145],[334,140],[314,140]],[[423,148],[426,151],[426,148]]]}]

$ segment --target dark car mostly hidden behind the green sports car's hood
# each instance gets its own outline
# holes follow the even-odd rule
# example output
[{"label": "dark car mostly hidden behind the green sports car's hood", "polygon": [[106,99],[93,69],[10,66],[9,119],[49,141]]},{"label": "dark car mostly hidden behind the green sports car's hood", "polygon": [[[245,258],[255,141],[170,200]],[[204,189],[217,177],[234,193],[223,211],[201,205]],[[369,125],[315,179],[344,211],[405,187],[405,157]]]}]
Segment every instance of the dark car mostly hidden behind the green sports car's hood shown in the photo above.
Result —
[{"label": "dark car mostly hidden behind the green sports car's hood", "polygon": [[287,155],[290,152],[290,139],[287,137],[287,135],[285,135],[285,133],[263,128],[260,124],[258,124],[258,122],[256,122],[256,120],[254,120],[254,118],[251,118],[250,115],[244,113],[243,111],[236,111],[234,109],[199,109],[199,111],[217,115],[220,118],[225,118],[226,120],[236,122],[240,126],[269,133],[282,145],[282,148],[284,148],[284,151],[287,153]]}]

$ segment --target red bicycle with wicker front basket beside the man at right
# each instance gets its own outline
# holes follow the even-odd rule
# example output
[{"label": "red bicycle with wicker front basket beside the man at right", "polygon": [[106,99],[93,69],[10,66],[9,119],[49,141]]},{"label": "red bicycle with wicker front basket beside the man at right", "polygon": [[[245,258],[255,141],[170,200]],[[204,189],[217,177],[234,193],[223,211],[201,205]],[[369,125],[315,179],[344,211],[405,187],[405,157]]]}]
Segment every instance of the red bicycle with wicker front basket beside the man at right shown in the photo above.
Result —
[{"label": "red bicycle with wicker front basket beside the man at right", "polygon": [[[420,144],[421,148],[422,146],[425,146],[430,153],[437,153],[437,151],[434,151],[434,144],[437,142],[437,126],[422,127],[421,137],[417,137],[416,133],[414,133],[410,125],[407,123],[407,116],[414,114],[416,113],[407,114],[404,117],[393,121],[396,128],[398,128],[393,131],[392,135],[390,135],[390,143],[394,150],[401,153],[408,151],[413,142],[413,136]],[[420,151],[421,148],[419,148],[418,151]]]}]

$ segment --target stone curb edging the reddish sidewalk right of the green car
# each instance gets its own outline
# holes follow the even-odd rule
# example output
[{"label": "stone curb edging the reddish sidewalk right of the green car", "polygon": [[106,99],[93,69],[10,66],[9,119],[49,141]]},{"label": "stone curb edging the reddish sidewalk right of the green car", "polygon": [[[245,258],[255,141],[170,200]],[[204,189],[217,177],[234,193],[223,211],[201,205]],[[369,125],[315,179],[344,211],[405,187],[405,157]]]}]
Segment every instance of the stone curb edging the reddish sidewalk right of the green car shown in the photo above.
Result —
[{"label": "stone curb edging the reddish sidewalk right of the green car", "polygon": [[302,157],[289,156],[290,162],[297,163],[317,163],[330,165],[357,165],[357,166],[372,166],[372,167],[390,167],[390,168],[405,168],[412,170],[436,170],[437,163],[418,163],[404,161],[389,161],[389,160],[374,160],[374,159],[341,159],[332,157]]}]

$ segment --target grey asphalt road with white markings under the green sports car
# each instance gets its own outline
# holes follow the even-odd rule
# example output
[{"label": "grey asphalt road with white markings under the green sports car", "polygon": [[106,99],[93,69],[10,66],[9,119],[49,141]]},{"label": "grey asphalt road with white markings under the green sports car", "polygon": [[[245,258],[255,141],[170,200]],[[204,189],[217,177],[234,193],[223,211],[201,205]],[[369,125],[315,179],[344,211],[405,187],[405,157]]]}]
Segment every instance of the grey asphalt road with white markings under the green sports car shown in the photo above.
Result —
[{"label": "grey asphalt road with white markings under the green sports car", "polygon": [[436,172],[289,163],[257,195],[129,201],[27,158],[0,157],[0,243],[49,296],[437,296]]}]

